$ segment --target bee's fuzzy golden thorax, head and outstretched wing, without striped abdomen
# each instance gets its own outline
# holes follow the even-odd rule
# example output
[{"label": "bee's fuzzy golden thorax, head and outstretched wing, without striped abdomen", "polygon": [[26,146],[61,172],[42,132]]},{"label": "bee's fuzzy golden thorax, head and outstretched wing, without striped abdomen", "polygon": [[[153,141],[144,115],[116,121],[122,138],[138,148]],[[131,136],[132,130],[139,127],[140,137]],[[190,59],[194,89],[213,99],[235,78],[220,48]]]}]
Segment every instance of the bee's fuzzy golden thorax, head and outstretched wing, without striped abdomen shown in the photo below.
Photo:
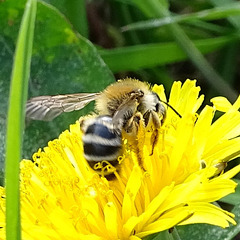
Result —
[{"label": "bee's fuzzy golden thorax, head and outstretched wing, without striped abdomen", "polygon": [[166,116],[166,109],[159,96],[147,83],[127,78],[109,85],[100,93],[76,93],[56,96],[39,96],[27,101],[26,117],[51,121],[63,112],[84,108],[94,101],[98,115],[109,115],[113,124],[121,122],[126,132],[135,134],[134,115],[143,115],[145,126],[158,129]]}]

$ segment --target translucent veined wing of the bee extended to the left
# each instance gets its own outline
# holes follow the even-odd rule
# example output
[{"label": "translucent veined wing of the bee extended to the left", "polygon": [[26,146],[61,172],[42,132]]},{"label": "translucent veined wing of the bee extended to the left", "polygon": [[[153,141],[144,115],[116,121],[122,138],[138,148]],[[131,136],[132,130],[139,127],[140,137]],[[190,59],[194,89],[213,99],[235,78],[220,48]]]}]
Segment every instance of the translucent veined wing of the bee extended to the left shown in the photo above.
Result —
[{"label": "translucent veined wing of the bee extended to the left", "polygon": [[26,104],[26,117],[34,120],[51,121],[62,112],[84,108],[96,100],[100,93],[76,93],[31,98]]}]

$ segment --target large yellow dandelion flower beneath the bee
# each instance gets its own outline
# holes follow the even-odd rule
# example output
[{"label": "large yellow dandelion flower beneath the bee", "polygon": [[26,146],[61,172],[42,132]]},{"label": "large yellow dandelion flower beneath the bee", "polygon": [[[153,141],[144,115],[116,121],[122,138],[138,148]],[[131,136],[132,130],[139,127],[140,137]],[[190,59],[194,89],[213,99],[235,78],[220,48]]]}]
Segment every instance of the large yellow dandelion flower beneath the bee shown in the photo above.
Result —
[{"label": "large yellow dandelion flower beneath the bee", "polygon": [[[163,86],[153,87],[166,100]],[[176,225],[235,224],[233,214],[212,204],[234,192],[224,172],[240,155],[240,98],[231,105],[214,98],[205,106],[196,81],[173,84],[166,120],[152,152],[151,132],[140,121],[137,149],[123,141],[115,179],[99,176],[83,157],[79,122],[21,162],[23,239],[142,239]],[[224,112],[213,121],[215,112]],[[139,166],[141,159],[142,166]],[[5,199],[1,189],[0,238],[4,239]]]}]

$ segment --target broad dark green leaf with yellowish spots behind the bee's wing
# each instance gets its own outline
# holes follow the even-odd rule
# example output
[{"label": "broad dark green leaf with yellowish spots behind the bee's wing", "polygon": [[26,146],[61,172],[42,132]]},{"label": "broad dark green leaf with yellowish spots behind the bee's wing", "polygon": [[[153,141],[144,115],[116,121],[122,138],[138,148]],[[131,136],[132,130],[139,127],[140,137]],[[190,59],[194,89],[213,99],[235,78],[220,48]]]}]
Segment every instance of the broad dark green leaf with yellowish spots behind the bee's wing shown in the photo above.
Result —
[{"label": "broad dark green leaf with yellowish spots behind the bee's wing", "polygon": [[[0,105],[0,138],[3,141],[12,54],[23,6],[24,3],[9,0],[0,8],[0,93],[3,103]],[[9,12],[14,14],[9,15]],[[98,92],[113,81],[113,74],[91,42],[76,33],[55,7],[38,2],[29,96]],[[92,105],[82,111],[63,114],[52,122],[27,122],[23,158],[31,159],[34,152],[91,110]],[[0,151],[3,166],[3,148]]]}]

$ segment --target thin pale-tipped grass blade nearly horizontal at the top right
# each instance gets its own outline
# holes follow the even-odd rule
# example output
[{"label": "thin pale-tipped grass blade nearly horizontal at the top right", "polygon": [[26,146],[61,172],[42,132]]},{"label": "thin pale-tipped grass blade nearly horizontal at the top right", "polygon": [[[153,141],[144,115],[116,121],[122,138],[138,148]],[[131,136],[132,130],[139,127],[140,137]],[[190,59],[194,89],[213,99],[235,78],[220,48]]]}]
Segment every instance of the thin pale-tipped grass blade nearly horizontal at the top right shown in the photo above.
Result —
[{"label": "thin pale-tipped grass blade nearly horizontal at the top right", "polygon": [[216,7],[197,13],[169,16],[161,19],[151,19],[129,24],[122,28],[122,31],[144,30],[149,28],[161,27],[172,23],[191,22],[195,20],[217,20],[229,16],[240,15],[240,4],[230,4],[230,6]]}]

